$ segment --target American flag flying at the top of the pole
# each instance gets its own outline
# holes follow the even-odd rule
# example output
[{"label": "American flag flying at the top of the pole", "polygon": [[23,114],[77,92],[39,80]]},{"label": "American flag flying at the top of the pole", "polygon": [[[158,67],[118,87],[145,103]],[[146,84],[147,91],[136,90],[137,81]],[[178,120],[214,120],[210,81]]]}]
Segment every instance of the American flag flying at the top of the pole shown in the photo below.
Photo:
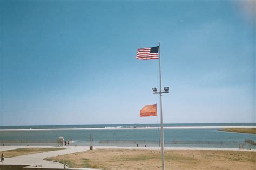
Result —
[{"label": "American flag flying at the top of the pole", "polygon": [[158,49],[159,49],[159,46],[151,47],[151,48],[139,48],[137,50],[136,59],[141,59],[141,60],[158,59]]}]

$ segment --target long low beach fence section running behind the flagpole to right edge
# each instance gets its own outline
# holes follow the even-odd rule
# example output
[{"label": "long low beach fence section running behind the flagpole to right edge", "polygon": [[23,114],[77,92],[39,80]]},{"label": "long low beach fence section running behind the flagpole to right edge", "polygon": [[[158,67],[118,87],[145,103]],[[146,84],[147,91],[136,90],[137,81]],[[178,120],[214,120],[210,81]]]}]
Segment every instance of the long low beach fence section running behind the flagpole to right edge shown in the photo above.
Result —
[{"label": "long low beach fence section running behind the flagpole to right edge", "polygon": [[[160,146],[160,140],[100,140],[100,144],[134,144],[134,146]],[[200,141],[200,140],[165,140],[166,147],[221,147],[221,148],[256,148],[253,140],[245,141]]]}]

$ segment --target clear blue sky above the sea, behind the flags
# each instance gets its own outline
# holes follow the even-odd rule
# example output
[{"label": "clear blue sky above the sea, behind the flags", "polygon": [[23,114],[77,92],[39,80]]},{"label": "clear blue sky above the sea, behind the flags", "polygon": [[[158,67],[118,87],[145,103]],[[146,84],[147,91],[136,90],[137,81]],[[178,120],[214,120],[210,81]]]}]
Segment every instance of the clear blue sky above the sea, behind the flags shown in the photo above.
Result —
[{"label": "clear blue sky above the sea, behind the flags", "polygon": [[255,1],[0,2],[1,125],[256,122]]}]

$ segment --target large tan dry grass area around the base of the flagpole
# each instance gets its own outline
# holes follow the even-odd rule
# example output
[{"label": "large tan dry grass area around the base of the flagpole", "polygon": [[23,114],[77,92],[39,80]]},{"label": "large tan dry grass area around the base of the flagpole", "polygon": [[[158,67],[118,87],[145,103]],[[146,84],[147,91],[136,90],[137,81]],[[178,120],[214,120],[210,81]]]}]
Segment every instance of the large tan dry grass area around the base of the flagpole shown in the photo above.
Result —
[{"label": "large tan dry grass area around the base of the flagpole", "polygon": [[[60,155],[46,160],[70,167],[102,169],[161,169],[158,150],[98,149]],[[256,152],[167,150],[166,169],[255,169]]]}]

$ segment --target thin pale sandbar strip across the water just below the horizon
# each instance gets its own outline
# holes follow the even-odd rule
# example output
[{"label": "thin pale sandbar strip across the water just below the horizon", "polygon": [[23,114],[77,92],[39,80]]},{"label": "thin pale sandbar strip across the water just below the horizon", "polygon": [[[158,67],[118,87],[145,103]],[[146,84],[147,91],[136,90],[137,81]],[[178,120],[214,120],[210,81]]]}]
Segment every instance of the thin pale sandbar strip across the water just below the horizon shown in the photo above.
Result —
[{"label": "thin pale sandbar strip across the water just below the horizon", "polygon": [[[164,129],[222,129],[256,128],[256,126],[166,126]],[[42,128],[42,129],[0,129],[0,131],[46,131],[46,130],[104,130],[104,129],[160,129],[160,127],[104,127],[104,128]]]}]

